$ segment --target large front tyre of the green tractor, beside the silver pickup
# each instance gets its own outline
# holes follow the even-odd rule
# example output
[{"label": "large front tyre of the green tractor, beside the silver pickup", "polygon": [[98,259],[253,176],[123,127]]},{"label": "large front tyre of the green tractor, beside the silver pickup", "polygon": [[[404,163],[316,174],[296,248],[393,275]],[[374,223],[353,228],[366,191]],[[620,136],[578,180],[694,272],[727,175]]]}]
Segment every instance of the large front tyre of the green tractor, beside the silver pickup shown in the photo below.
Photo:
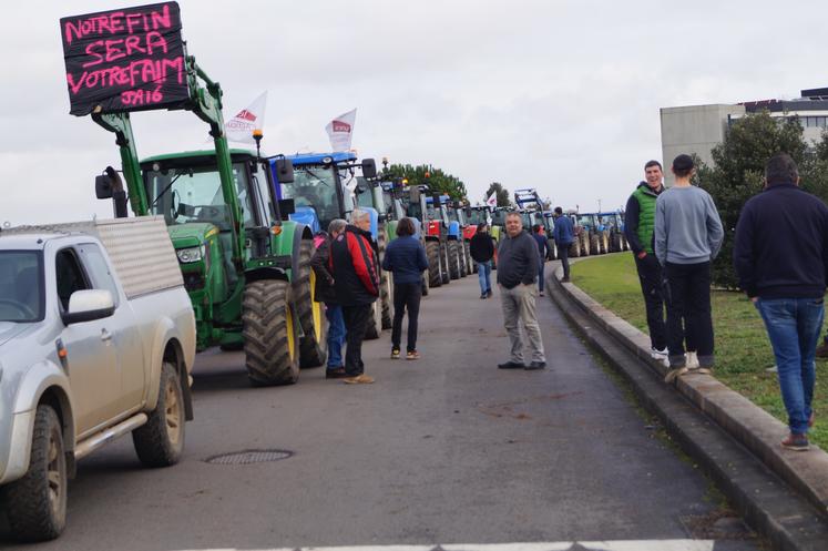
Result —
[{"label": "large front tyre of the green tractor, beside the silver pickup", "polygon": [[247,377],[257,386],[290,385],[299,378],[299,325],[290,284],[248,283],[242,303]]}]

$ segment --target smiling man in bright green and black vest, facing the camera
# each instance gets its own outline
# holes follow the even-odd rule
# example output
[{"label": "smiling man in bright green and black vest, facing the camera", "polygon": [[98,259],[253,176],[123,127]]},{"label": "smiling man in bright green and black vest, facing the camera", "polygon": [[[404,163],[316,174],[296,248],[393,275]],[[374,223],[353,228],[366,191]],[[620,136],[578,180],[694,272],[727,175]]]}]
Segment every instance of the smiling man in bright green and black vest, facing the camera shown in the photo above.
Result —
[{"label": "smiling man in bright green and black vest, facing the camera", "polygon": [[664,323],[664,298],[662,296],[662,267],[655,257],[653,234],[655,231],[655,200],[664,191],[662,164],[647,161],[644,165],[644,182],[635,188],[626,202],[624,236],[635,256],[641,290],[647,313],[651,355],[667,364],[667,330]]}]

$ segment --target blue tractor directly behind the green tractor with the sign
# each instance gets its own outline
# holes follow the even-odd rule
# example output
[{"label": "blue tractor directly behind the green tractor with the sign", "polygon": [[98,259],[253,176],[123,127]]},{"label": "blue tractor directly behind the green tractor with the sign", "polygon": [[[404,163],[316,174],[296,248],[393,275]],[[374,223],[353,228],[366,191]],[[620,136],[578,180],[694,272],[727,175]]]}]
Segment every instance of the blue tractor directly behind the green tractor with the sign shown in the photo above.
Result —
[{"label": "blue tractor directly behind the green tractor with the sign", "polygon": [[[306,224],[313,228],[314,233],[327,229],[328,224],[335,218],[350,221],[350,214],[357,207],[356,192],[369,191],[365,188],[365,181],[357,177],[357,169],[361,170],[364,178],[370,180],[377,176],[377,165],[372,159],[357,162],[357,155],[350,152],[297,153],[286,155],[286,159],[290,160],[294,166],[294,181],[290,183],[278,182],[275,170],[276,160],[270,161],[276,182],[276,195],[279,200],[293,200],[294,213],[290,220]],[[357,190],[357,187],[360,188]],[[385,254],[385,239],[382,238],[385,235],[380,232],[379,213],[374,207],[360,206],[359,208],[370,214],[375,252],[381,262]],[[385,285],[380,282],[379,298],[374,303],[374,315],[368,320],[365,335],[368,339],[379,338],[382,331],[384,305],[388,309],[390,304],[387,276]],[[390,318],[388,313],[386,318]]]}]

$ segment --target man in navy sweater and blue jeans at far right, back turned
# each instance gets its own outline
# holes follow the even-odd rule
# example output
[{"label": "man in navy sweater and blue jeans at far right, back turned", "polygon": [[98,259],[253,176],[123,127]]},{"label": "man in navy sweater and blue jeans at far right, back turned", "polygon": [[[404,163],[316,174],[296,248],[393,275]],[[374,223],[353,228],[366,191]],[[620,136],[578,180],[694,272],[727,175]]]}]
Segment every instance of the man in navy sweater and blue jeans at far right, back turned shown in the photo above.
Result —
[{"label": "man in navy sweater and blue jeans at far right, back turned", "polygon": [[799,188],[790,156],[768,161],[765,191],[742,208],[733,259],[739,287],[759,310],[776,356],[790,429],[781,446],[805,451],[814,425],[814,356],[825,316],[828,207]]}]

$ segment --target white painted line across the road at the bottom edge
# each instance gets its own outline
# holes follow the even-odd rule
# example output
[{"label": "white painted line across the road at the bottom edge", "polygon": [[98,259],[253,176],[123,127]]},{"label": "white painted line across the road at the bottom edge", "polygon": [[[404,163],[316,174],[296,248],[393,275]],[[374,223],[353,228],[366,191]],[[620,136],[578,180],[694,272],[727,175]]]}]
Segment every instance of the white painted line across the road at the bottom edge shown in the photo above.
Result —
[{"label": "white painted line across the road at the bottom edge", "polygon": [[437,545],[346,545],[324,548],[187,549],[180,551],[713,551],[714,540],[559,541],[531,543],[447,543]]}]

